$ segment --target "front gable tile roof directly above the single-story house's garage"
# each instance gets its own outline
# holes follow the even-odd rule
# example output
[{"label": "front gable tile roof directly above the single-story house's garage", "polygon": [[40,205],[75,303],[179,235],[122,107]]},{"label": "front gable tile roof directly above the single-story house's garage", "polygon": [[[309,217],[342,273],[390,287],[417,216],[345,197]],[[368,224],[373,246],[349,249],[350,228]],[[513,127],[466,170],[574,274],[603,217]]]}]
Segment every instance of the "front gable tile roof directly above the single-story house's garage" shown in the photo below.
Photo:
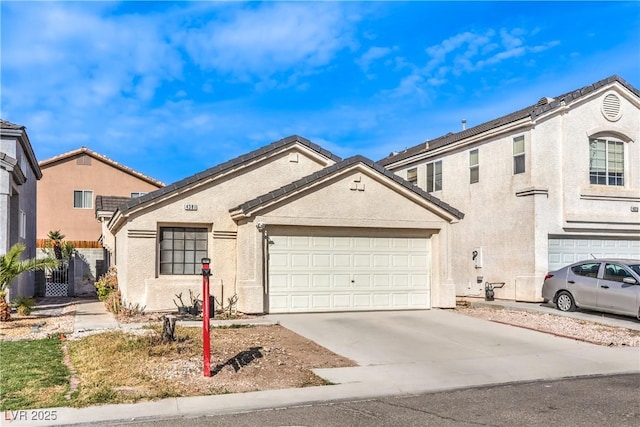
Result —
[{"label": "front gable tile roof directly above the single-story house's garage", "polygon": [[240,206],[231,209],[230,212],[236,211],[236,212],[243,212],[243,213],[248,213],[256,208],[260,208],[261,206],[265,206],[273,201],[276,201],[278,199],[281,199],[283,197],[286,197],[288,194],[294,193],[298,190],[300,190],[301,188],[307,187],[315,182],[321,181],[322,179],[324,179],[327,176],[330,176],[332,174],[335,174],[341,170],[347,169],[350,166],[356,164],[356,163],[362,163],[366,166],[368,166],[369,168],[375,170],[376,172],[386,176],[387,178],[395,181],[396,183],[402,185],[403,187],[411,190],[412,192],[418,194],[419,196],[421,196],[422,198],[428,200],[429,202],[435,204],[436,206],[439,206],[440,208],[444,209],[445,211],[449,212],[451,215],[453,215],[454,217],[458,218],[458,219],[462,219],[464,218],[464,213],[460,212],[459,210],[455,209],[454,207],[452,207],[451,205],[443,202],[442,200],[432,196],[431,194],[427,193],[426,191],[422,190],[420,187],[413,185],[412,183],[410,183],[409,181],[401,178],[400,176],[396,175],[395,173],[385,169],[384,167],[382,167],[380,164],[375,163],[373,160],[370,160],[364,156],[353,156],[353,157],[349,157],[348,159],[342,160],[341,162],[338,162],[336,164],[333,164],[331,166],[328,166],[324,169],[321,169],[317,172],[314,172],[311,175],[308,175],[304,178],[301,178],[297,181],[294,181],[290,184],[285,185],[284,187],[280,187],[277,190],[271,191],[267,194],[263,194],[262,196],[258,196],[253,200],[250,200],[248,202],[245,202],[243,204],[241,204]]}]

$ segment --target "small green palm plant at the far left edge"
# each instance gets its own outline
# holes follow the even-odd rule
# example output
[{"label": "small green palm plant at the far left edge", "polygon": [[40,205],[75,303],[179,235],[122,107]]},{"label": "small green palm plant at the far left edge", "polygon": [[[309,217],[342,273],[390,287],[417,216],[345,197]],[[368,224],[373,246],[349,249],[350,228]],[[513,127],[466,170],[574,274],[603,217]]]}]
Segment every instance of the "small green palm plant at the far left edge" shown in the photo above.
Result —
[{"label": "small green palm plant at the far left edge", "polygon": [[51,257],[20,260],[20,255],[25,249],[24,244],[16,243],[6,254],[0,255],[0,321],[3,322],[11,319],[11,306],[6,299],[7,288],[11,281],[26,271],[56,268],[59,263],[57,259]]}]

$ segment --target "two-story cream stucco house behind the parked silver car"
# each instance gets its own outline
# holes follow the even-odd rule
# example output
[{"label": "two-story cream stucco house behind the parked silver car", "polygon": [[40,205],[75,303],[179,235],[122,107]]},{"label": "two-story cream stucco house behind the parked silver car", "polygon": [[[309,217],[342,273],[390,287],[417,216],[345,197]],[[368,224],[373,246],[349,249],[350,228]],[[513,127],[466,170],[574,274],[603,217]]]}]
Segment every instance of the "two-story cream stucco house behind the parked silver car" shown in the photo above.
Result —
[{"label": "two-story cream stucco house behind the parked silver car", "polygon": [[640,92],[618,76],[379,163],[465,212],[449,252],[458,296],[489,282],[538,301],[550,270],[640,258]]}]

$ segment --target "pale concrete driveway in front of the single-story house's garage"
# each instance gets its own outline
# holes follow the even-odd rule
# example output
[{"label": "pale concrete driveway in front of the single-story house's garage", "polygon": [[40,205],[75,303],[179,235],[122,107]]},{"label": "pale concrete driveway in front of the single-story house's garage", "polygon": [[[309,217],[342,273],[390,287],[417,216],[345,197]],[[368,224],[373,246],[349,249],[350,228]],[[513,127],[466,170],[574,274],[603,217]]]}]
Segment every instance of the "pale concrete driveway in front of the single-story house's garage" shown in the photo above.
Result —
[{"label": "pale concrete driveway in front of the single-story house's garage", "polygon": [[271,315],[358,363],[318,369],[373,394],[640,372],[639,348],[609,348],[448,310]]}]

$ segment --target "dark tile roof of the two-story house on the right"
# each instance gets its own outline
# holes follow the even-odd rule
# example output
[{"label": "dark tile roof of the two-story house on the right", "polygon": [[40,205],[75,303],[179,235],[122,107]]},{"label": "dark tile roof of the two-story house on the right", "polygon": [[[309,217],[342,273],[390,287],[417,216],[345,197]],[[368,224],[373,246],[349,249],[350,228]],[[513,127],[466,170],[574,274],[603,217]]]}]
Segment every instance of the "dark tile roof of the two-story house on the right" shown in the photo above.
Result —
[{"label": "dark tile roof of the two-story house on the right", "polygon": [[626,80],[622,79],[617,75],[613,75],[607,77],[606,79],[600,80],[596,83],[590,84],[580,89],[576,89],[571,92],[567,92],[565,94],[556,96],[555,98],[547,98],[542,97],[536,104],[530,105],[521,110],[515,111],[513,113],[507,114],[505,116],[499,117],[497,119],[482,123],[478,126],[474,126],[472,128],[463,130],[461,132],[456,133],[448,133],[446,135],[440,136],[436,139],[431,139],[429,141],[425,141],[421,144],[403,150],[400,153],[392,154],[384,159],[378,161],[383,166],[389,165],[391,163],[408,159],[416,154],[425,153],[436,148],[443,147],[445,145],[453,144],[454,142],[464,140],[466,138],[470,138],[472,136],[476,136],[487,132],[489,130],[498,128],[500,126],[516,122],[518,120],[531,117],[531,119],[535,119],[536,117],[547,113],[548,111],[555,110],[561,105],[568,104],[570,102],[575,101],[576,99],[582,98],[583,96],[588,95],[589,93],[600,89],[603,86],[608,86],[614,82],[618,82],[631,92],[633,92],[636,96],[640,97],[640,91],[629,84]]}]

